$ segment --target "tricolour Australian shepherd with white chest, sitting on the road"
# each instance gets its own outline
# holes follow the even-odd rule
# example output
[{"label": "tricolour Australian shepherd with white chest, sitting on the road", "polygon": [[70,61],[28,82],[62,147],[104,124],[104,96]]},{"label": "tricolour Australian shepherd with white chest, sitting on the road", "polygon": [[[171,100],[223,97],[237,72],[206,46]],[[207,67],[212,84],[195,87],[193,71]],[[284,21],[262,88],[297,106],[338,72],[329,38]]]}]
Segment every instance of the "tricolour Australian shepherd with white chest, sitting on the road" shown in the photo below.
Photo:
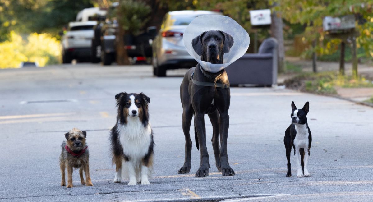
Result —
[{"label": "tricolour Australian shepherd with white chest, sitting on the road", "polygon": [[150,98],[143,93],[121,92],[115,95],[117,121],[110,131],[114,182],[129,179],[128,185],[150,184],[153,170],[153,130],[149,123]]}]

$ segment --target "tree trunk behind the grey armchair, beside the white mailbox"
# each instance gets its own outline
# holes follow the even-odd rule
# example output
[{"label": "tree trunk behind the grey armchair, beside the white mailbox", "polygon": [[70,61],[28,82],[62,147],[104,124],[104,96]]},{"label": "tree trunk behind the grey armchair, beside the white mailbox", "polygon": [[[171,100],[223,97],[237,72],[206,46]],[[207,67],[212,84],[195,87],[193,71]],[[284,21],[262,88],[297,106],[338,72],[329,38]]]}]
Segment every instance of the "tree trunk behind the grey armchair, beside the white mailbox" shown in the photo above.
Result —
[{"label": "tree trunk behind the grey armchair, beside the white mailbox", "polygon": [[283,22],[281,13],[273,12],[271,18],[271,35],[273,38],[276,38],[278,42],[278,72],[285,72],[285,47],[283,42]]}]

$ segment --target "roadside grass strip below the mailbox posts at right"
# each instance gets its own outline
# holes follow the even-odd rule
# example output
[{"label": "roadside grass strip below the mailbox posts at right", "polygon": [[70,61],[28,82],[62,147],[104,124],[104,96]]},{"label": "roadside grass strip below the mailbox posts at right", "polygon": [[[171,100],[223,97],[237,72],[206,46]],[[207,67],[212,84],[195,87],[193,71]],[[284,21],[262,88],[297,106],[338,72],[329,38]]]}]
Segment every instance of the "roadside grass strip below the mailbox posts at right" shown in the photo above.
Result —
[{"label": "roadside grass strip below the mailbox posts at right", "polygon": [[354,79],[352,76],[341,76],[337,72],[302,73],[286,80],[284,83],[287,88],[322,95],[336,95],[336,87],[373,88],[372,81],[362,77]]}]

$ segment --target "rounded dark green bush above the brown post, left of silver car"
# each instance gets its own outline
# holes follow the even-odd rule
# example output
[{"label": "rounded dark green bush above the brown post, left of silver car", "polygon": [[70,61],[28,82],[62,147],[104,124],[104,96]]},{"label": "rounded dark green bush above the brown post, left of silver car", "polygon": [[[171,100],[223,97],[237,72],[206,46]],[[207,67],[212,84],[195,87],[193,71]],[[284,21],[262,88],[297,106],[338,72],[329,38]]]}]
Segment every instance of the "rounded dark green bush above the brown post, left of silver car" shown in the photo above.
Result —
[{"label": "rounded dark green bush above the brown post, left of silver car", "polygon": [[116,10],[119,24],[126,32],[136,34],[149,20],[150,6],[142,1],[121,0]]}]

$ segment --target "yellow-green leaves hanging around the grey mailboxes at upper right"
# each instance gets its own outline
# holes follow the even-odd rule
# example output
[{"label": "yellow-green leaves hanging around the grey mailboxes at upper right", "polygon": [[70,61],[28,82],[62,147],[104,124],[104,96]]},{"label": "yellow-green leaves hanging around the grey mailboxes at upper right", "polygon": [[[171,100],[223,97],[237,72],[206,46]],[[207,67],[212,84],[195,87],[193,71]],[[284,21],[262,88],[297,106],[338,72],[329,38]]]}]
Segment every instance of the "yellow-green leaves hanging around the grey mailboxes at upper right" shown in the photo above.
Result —
[{"label": "yellow-green leaves hanging around the grey mailboxes at upper right", "polygon": [[[300,23],[305,28],[305,40],[319,41],[316,51],[319,55],[332,54],[338,50],[341,40],[327,38],[323,32],[322,22],[325,16],[339,17],[355,15],[363,24],[357,24],[360,36],[357,47],[363,47],[367,56],[373,57],[373,12],[372,0],[275,0],[275,10],[282,12],[284,19],[290,23]],[[363,5],[363,6],[362,6]],[[311,48],[310,51],[313,51]]]}]

